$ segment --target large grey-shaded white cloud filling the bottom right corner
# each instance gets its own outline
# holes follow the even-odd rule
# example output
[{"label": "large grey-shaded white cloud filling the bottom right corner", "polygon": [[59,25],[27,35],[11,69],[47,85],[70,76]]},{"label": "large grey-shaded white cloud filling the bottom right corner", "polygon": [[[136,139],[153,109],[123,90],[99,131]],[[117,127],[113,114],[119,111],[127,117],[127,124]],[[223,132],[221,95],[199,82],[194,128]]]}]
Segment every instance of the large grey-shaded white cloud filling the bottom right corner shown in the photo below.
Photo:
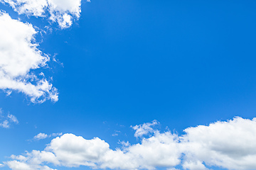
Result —
[{"label": "large grey-shaded white cloud filling the bottom right corner", "polygon": [[205,162],[225,169],[256,169],[256,118],[234,118],[185,132],[186,166],[203,169]]}]

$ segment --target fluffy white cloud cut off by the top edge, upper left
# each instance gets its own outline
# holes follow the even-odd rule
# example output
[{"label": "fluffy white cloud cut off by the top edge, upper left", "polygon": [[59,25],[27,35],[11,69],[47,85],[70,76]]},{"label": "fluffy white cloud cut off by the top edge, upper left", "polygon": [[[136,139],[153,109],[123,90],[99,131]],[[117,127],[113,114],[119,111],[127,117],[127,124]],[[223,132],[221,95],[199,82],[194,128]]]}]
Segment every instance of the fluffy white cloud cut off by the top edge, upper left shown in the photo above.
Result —
[{"label": "fluffy white cloud cut off by the top edge, upper left", "polygon": [[[89,1],[89,0],[87,0]],[[60,28],[68,28],[73,19],[80,17],[81,0],[0,0],[9,4],[14,11],[28,16],[46,17],[50,13],[50,20],[57,22]]]}]

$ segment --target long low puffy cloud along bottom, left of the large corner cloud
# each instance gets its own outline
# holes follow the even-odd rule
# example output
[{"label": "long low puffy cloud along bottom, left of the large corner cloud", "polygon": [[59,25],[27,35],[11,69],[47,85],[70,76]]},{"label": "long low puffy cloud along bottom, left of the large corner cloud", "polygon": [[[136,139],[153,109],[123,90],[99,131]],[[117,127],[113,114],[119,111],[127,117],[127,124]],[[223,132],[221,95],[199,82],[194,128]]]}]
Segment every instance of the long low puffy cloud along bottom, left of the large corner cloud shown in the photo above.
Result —
[{"label": "long low puffy cloud along bottom, left of the large corner cloud", "polygon": [[[16,160],[6,164],[9,166],[10,163],[20,162],[27,166],[38,167],[43,162],[49,162],[59,166],[90,166],[101,169],[154,169],[154,166],[175,166],[180,162],[177,157],[179,151],[175,149],[177,148],[175,138],[175,135],[167,132],[144,139],[142,144],[132,145],[125,150],[112,150],[107,142],[98,137],[85,140],[73,134],[65,134],[53,139],[45,151],[33,151],[27,153],[26,157],[13,155],[11,157]],[[172,149],[172,152],[169,152],[169,149]],[[45,154],[51,157],[46,160],[47,157],[43,157]]]}]

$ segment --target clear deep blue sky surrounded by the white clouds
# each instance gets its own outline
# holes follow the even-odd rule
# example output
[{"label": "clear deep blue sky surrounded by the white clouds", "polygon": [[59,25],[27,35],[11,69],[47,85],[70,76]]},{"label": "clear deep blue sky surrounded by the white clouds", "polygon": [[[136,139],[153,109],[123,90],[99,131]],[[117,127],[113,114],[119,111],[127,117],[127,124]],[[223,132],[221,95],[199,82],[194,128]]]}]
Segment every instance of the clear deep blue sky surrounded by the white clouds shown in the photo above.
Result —
[{"label": "clear deep blue sky surrounded by the white clouds", "polygon": [[[182,134],[217,120],[254,118],[255,7],[249,0],[83,2],[79,20],[43,34],[38,47],[63,63],[43,69],[59,101],[33,104],[1,92],[0,108],[20,123],[0,129],[0,159],[44,149],[50,139],[28,141],[39,132],[100,137],[114,149],[118,140],[138,142],[130,125],[152,120],[161,131]],[[36,25],[38,18],[27,21]]]}]

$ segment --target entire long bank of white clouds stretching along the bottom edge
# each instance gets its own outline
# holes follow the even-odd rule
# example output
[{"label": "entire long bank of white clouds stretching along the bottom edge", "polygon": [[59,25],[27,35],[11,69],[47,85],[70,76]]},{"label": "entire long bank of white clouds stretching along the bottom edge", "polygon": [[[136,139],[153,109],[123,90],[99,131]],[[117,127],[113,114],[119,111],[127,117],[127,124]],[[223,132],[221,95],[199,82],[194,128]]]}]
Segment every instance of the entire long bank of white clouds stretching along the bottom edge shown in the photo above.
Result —
[{"label": "entire long bank of white clouds stretching along the bottom edge", "polygon": [[95,137],[85,140],[73,134],[55,137],[43,151],[33,150],[4,162],[10,169],[51,169],[55,166],[89,166],[92,169],[176,169],[206,170],[256,169],[256,119],[233,120],[199,125],[184,130],[185,135],[154,131],[134,145],[110,149]]}]

